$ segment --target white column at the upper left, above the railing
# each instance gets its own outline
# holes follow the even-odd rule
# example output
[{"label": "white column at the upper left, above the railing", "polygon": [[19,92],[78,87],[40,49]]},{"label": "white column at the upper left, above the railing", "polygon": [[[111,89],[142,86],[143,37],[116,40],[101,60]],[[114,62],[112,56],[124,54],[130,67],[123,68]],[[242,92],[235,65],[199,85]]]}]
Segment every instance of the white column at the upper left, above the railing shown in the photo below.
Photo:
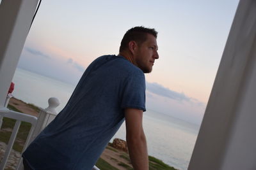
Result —
[{"label": "white column at the upper left, above the railing", "polygon": [[38,0],[3,0],[0,5],[0,108],[17,67]]}]

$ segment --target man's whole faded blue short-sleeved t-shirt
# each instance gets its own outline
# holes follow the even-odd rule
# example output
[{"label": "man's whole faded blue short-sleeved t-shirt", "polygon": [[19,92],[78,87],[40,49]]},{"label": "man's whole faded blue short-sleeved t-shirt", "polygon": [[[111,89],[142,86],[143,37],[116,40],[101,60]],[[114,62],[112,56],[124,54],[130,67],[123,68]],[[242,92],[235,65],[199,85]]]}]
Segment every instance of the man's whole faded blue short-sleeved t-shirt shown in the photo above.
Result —
[{"label": "man's whole faded blue short-sleeved t-shirt", "polygon": [[122,56],[99,57],[22,156],[36,170],[91,170],[124,122],[125,108],[145,111],[143,71]]}]

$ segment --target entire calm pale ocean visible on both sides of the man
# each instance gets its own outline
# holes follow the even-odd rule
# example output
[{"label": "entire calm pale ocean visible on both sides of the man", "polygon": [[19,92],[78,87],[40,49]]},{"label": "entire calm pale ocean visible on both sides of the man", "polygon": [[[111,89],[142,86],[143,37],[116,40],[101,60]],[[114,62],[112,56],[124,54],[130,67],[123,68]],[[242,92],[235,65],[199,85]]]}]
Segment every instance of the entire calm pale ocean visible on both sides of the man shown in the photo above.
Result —
[{"label": "entire calm pale ocean visible on both sides of the man", "polygon": [[[15,71],[13,83],[14,97],[41,108],[48,107],[49,97],[57,97],[60,100],[60,106],[56,108],[58,112],[67,104],[76,87],[20,68]],[[143,129],[147,137],[148,155],[161,159],[177,169],[188,169],[199,131],[198,125],[147,110],[143,114]],[[125,123],[114,138],[125,140]]]}]

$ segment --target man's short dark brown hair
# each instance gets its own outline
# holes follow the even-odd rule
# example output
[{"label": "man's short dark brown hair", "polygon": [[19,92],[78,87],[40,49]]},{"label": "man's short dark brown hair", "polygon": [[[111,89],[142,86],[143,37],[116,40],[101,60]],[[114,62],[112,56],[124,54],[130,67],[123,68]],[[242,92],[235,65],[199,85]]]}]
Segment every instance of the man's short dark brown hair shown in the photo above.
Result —
[{"label": "man's short dark brown hair", "polygon": [[151,34],[157,38],[157,31],[155,29],[146,28],[143,26],[133,27],[125,32],[124,37],[121,41],[119,52],[124,52],[128,48],[130,41],[136,41],[138,45],[141,45],[147,40],[147,34]]}]

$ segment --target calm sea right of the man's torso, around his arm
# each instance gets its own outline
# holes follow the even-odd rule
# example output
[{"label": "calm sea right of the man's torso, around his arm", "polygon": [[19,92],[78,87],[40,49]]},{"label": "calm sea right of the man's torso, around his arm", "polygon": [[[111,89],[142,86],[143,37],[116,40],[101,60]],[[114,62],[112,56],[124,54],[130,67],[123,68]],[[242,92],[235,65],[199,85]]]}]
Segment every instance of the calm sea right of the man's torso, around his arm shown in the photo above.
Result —
[{"label": "calm sea right of the man's torso, around his arm", "polygon": [[[143,114],[143,129],[147,137],[148,155],[177,169],[188,169],[198,125],[147,110]],[[125,123],[114,138],[125,140]]]}]

